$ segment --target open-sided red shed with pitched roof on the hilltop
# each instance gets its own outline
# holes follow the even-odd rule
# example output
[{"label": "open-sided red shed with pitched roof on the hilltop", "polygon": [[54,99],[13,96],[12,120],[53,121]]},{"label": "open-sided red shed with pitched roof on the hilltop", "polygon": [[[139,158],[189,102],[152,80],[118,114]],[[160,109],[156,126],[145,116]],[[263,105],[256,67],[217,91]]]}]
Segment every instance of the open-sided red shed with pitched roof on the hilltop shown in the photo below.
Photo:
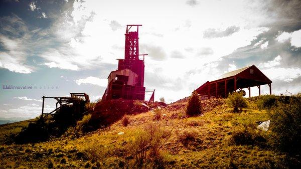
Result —
[{"label": "open-sided red shed with pitched roof on the hilltop", "polygon": [[207,81],[194,92],[209,99],[226,98],[228,97],[228,93],[242,91],[242,89],[247,88],[249,90],[249,97],[251,97],[251,87],[257,86],[260,95],[261,85],[268,85],[269,93],[271,94],[271,83],[271,80],[255,65],[252,65],[225,73],[216,80]]}]

